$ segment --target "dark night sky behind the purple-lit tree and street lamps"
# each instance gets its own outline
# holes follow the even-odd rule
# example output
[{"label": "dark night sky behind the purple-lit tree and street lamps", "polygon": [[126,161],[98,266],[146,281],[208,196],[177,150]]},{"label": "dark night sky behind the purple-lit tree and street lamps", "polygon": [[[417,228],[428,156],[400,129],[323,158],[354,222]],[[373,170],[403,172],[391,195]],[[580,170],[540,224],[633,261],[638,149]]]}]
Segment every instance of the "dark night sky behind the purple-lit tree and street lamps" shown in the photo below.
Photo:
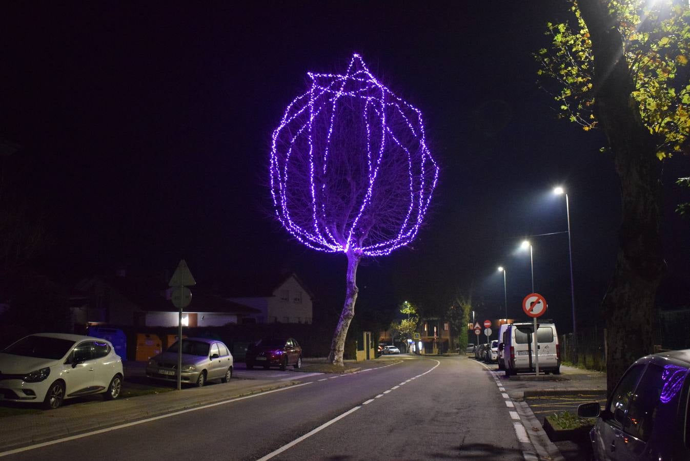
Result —
[{"label": "dark night sky behind the purple-lit tree and street lamps", "polygon": [[[344,72],[359,52],[424,113],[442,167],[411,248],[368,260],[359,305],[440,304],[475,287],[480,317],[509,316],[531,291],[524,236],[564,231],[571,201],[578,317],[598,318],[615,263],[619,216],[601,133],[555,119],[531,52],[565,2],[163,2],[4,4],[0,137],[23,150],[5,167],[50,212],[54,244],[34,262],[63,277],[117,268],[174,269],[197,282],[237,269],[290,267],[326,308],[344,294],[342,255],[313,252],[271,218],[270,132],[306,89],[306,72]],[[660,303],[689,305],[690,223],[673,214],[664,166],[669,280]],[[532,238],[535,291],[571,329],[566,234]],[[522,314],[521,314],[522,315]]]}]

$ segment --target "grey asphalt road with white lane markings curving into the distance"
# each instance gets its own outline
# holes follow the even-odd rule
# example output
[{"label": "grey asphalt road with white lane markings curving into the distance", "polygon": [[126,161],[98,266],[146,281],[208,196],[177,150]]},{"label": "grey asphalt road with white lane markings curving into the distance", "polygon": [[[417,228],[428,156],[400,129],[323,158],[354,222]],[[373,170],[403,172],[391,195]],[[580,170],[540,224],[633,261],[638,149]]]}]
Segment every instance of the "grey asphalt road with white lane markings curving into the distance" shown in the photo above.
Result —
[{"label": "grey asphalt road with white lane markings curving into the distance", "polygon": [[[387,367],[173,413],[8,460],[522,460],[491,374],[464,357],[393,357]],[[270,458],[268,458],[270,457]]]}]

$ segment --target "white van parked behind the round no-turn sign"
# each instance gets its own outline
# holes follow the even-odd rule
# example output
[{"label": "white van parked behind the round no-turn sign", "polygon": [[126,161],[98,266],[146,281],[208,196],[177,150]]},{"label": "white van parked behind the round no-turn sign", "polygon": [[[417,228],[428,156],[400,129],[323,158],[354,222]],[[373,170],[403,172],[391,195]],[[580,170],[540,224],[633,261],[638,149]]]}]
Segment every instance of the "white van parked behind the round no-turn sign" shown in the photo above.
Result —
[{"label": "white van parked behind the round no-turn sign", "polygon": [[[503,365],[506,375],[535,371],[534,326],[532,323],[509,325],[503,338]],[[539,369],[545,374],[560,374],[560,345],[553,322],[538,322],[537,347],[539,348]]]}]

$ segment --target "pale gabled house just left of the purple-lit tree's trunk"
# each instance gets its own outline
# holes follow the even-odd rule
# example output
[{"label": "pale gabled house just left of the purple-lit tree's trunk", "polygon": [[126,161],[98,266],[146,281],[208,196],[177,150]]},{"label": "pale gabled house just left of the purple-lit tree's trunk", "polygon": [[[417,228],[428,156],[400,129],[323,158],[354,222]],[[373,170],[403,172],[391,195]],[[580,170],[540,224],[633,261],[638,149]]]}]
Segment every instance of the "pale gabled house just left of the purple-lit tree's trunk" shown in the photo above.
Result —
[{"label": "pale gabled house just left of the purple-lit tree's trunk", "polygon": [[236,276],[224,283],[221,297],[259,311],[244,322],[311,323],[314,296],[296,274],[255,274]]}]

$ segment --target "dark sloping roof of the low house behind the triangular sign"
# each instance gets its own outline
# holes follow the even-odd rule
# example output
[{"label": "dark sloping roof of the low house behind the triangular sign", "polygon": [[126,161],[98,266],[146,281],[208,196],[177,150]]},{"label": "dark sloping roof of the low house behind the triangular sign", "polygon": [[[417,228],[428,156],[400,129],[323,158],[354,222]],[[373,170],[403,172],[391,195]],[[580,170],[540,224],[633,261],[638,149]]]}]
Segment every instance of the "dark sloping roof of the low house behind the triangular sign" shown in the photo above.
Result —
[{"label": "dark sloping roof of the low house behind the triangular sign", "polygon": [[[119,294],[127,298],[131,303],[137,305],[142,311],[154,312],[177,312],[178,309],[170,301],[170,292],[167,283],[159,278],[130,278],[130,277],[104,277],[98,278],[108,287],[111,287]],[[92,286],[87,284],[85,288]],[[196,290],[193,287],[192,302],[185,307],[186,312],[217,312],[227,314],[257,314],[260,311],[253,307],[240,303],[234,303],[221,298],[204,293],[203,290]]]}]

